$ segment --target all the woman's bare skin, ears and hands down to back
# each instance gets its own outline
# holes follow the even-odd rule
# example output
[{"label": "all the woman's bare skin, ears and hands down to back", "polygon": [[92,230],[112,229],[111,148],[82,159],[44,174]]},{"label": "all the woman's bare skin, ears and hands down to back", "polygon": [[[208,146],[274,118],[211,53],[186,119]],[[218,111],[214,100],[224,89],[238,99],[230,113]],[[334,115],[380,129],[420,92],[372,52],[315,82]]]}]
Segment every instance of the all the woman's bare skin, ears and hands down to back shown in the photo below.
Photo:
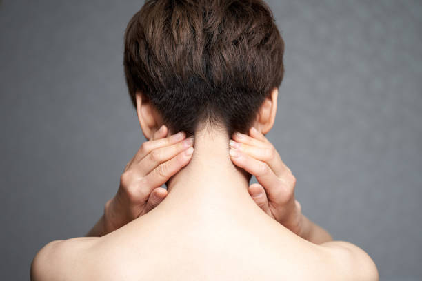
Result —
[{"label": "all the woman's bare skin, ears and hands down to back", "polygon": [[[277,94],[248,136],[230,142],[223,129],[201,127],[186,155],[191,145],[160,132],[162,119],[139,93],[150,141],[89,233],[103,236],[50,242],[32,262],[32,280],[378,280],[367,253],[301,214],[296,180],[264,136]],[[259,184],[249,185],[251,174]]]}]

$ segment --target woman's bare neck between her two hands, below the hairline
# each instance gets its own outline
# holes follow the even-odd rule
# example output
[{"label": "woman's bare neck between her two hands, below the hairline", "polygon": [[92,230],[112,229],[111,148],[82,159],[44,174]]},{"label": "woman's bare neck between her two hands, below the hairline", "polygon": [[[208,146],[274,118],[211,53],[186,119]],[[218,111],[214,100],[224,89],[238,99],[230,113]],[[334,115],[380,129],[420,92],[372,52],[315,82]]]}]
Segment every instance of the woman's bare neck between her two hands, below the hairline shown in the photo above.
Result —
[{"label": "woman's bare neck between her two hands, below the hairline", "polygon": [[232,163],[227,134],[222,130],[202,129],[195,134],[190,163],[168,181],[165,200],[194,207],[250,203],[250,177]]}]

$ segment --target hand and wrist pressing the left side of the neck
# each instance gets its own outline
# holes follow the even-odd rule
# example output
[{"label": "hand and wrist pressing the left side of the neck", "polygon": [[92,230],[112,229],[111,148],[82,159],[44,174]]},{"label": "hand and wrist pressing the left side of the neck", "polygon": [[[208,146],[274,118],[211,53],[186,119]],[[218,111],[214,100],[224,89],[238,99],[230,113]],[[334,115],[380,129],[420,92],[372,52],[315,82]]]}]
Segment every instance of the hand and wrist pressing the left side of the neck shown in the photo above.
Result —
[{"label": "hand and wrist pressing the left side of the neck", "polygon": [[126,165],[117,194],[106,203],[103,235],[154,209],[167,196],[161,185],[188,165],[193,153],[193,136],[185,132],[167,135],[165,125],[150,141],[141,145]]}]

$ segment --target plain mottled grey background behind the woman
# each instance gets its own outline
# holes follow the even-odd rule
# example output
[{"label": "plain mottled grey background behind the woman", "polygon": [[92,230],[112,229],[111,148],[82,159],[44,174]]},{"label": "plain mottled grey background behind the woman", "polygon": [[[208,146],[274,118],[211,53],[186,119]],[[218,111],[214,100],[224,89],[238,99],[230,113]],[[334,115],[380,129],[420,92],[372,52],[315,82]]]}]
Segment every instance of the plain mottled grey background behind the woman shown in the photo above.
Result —
[{"label": "plain mottled grey background behind the woman", "polygon": [[[1,280],[84,236],[145,138],[123,80],[143,1],[0,4]],[[268,1],[285,80],[268,134],[297,198],[381,280],[422,280],[421,1]]]}]

